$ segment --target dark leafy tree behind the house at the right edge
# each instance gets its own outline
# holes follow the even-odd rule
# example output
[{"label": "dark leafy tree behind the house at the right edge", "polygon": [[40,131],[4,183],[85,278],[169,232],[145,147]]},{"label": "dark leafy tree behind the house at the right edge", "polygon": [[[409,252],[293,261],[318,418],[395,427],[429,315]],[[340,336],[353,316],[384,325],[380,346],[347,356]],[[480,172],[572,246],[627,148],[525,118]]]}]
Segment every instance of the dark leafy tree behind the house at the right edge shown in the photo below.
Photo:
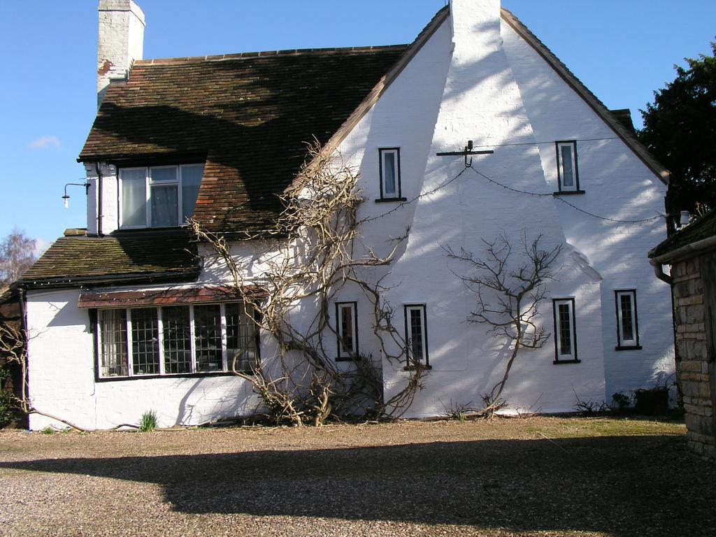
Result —
[{"label": "dark leafy tree behind the house at the right edge", "polygon": [[[716,56],[716,43],[711,44]],[[686,59],[677,77],[642,110],[639,139],[671,172],[669,228],[679,211],[716,208],[716,58]]]}]

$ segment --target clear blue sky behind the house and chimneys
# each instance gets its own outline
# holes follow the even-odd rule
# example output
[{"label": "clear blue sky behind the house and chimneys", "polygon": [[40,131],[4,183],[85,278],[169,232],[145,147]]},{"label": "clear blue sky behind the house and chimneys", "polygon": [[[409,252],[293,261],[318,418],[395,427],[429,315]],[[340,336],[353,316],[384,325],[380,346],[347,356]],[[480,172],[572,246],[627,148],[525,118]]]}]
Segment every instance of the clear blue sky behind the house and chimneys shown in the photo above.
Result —
[{"label": "clear blue sky behind the house and chimneys", "polygon": [[[138,0],[145,58],[409,43],[445,0]],[[76,162],[96,108],[97,0],[0,0],[0,237],[86,225]],[[607,107],[638,110],[710,53],[713,0],[503,0]],[[270,7],[270,9],[269,9]]]}]

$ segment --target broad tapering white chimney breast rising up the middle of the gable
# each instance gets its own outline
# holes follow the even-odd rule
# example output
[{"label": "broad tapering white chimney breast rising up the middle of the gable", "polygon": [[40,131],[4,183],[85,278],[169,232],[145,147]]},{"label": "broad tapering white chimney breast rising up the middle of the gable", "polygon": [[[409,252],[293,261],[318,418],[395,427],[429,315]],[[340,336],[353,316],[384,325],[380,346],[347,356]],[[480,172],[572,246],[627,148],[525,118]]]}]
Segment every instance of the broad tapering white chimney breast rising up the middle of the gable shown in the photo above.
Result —
[{"label": "broad tapering white chimney breast rising up the middle of the gable", "polygon": [[[427,153],[423,193],[440,188],[463,169],[462,158],[437,157],[435,153],[460,150],[468,140],[476,146],[536,141],[517,81],[500,46],[499,4],[478,4],[453,6],[453,15],[444,25],[451,32],[442,36],[452,34],[454,47]],[[458,24],[451,24],[453,21]],[[410,109],[404,107],[402,111],[409,121]],[[511,188],[551,193],[534,145],[501,148],[494,155],[473,158],[473,163],[480,173]],[[487,183],[473,170],[415,203],[405,254],[386,280],[387,285],[395,285],[389,294],[394,304],[425,303],[427,307],[432,371],[407,415],[435,415],[450,400],[479,405],[480,395],[501,378],[509,354],[504,342],[485,334],[484,326],[465,323],[475,297],[453,272],[465,274],[468,266],[449,261],[442,246],[465,248],[483,256],[482,238],[492,240],[505,234],[518,249],[523,231],[528,241],[542,233],[541,243],[546,249],[564,242],[551,198],[510,192]],[[565,251],[561,264],[569,265],[567,256]],[[591,274],[563,271],[559,277],[559,284],[553,286],[555,298],[574,296],[577,303],[598,301]],[[543,311],[546,329],[551,330],[551,302],[543,305]],[[577,325],[601,333],[599,307],[579,310]],[[550,344],[518,358],[504,393],[513,409],[537,403],[546,411],[571,410],[573,387],[581,397],[603,397],[604,365],[596,345],[600,341],[594,338],[593,330],[580,334],[584,336],[578,334],[577,338],[579,364],[554,365]],[[386,377],[387,397],[401,387],[403,376]]]}]

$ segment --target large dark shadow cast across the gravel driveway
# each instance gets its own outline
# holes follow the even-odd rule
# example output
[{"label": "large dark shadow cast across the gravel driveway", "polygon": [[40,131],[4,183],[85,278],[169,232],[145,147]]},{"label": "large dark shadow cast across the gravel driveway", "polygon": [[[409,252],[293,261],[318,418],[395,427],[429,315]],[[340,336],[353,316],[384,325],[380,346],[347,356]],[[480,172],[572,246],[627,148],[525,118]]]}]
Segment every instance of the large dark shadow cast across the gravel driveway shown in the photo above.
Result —
[{"label": "large dark shadow cast across the gravel driveway", "polygon": [[714,535],[715,468],[689,458],[683,444],[680,436],[485,440],[0,468],[157,483],[183,513]]}]

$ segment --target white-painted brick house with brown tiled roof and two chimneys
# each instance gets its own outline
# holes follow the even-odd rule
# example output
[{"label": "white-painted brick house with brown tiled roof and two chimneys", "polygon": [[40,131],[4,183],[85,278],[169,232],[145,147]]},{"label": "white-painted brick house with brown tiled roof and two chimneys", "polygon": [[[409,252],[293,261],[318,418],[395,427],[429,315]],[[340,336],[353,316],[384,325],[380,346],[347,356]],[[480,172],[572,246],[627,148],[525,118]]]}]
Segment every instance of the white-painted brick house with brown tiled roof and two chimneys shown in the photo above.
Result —
[{"label": "white-painted brick house with brown tiled roof and two chimneys", "polygon": [[[569,412],[576,397],[609,403],[673,374],[669,286],[647,260],[666,236],[668,173],[624,111],[498,0],[451,1],[407,46],[147,60],[143,30],[133,1],[100,1],[101,104],[79,155],[87,229],[68,230],[21,281],[38,410],[88,428],[150,409],[160,425],[252,412],[257,396],[228,357],[243,346],[266,359],[275,342],[249,341],[226,272],[181,224],[194,216],[234,241],[260,289],[255,245],[240,238],[272,226],[311,138],[359,170],[362,244],[384,253],[410,228],[369,275],[429,366],[405,416],[476,405],[502,377],[510,342],[466,322],[475,294],[456,274],[469,267],[445,252],[483,257],[483,239],[499,236],[516,250],[523,236],[561,245],[536,319],[551,336],[521,349],[506,410]],[[383,357],[359,289],[332,300],[349,350],[382,357],[389,399],[410,368]]]}]

